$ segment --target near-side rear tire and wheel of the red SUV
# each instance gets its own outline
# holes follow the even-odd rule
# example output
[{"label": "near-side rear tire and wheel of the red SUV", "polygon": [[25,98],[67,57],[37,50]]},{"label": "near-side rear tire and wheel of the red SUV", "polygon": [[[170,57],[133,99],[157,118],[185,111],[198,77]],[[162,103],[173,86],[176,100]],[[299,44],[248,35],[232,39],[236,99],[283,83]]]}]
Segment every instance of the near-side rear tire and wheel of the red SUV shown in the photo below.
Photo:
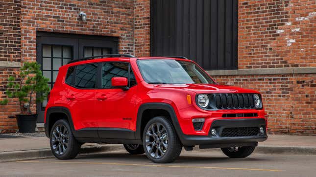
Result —
[{"label": "near-side rear tire and wheel of the red SUV", "polygon": [[80,143],[73,137],[72,129],[67,120],[57,120],[51,128],[50,149],[58,159],[73,159],[80,150]]}]

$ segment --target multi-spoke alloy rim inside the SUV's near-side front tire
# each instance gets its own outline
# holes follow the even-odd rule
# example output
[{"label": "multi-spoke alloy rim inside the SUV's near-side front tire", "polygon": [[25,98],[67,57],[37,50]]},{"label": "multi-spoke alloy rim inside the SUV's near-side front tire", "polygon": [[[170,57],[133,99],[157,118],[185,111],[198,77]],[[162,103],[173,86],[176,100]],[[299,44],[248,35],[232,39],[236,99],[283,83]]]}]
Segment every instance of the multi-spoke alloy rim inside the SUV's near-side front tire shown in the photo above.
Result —
[{"label": "multi-spoke alloy rim inside the SUV's near-side front tire", "polygon": [[146,150],[153,158],[161,158],[168,149],[168,133],[164,125],[152,123],[146,131]]}]

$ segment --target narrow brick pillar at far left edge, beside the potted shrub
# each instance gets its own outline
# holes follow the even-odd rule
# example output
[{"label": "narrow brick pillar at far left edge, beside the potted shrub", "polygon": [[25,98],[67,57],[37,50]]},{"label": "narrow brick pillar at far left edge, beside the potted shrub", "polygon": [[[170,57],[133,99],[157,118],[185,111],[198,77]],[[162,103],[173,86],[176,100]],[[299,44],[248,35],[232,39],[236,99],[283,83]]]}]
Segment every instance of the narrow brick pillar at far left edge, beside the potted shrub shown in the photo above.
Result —
[{"label": "narrow brick pillar at far left edge, beside the potted shrub", "polygon": [[[0,2],[0,62],[20,61],[20,0]],[[17,69],[0,67],[0,99],[6,90],[8,75],[16,75]],[[18,102],[11,99],[9,105],[0,106],[0,133],[15,132],[15,114],[19,112]]]}]

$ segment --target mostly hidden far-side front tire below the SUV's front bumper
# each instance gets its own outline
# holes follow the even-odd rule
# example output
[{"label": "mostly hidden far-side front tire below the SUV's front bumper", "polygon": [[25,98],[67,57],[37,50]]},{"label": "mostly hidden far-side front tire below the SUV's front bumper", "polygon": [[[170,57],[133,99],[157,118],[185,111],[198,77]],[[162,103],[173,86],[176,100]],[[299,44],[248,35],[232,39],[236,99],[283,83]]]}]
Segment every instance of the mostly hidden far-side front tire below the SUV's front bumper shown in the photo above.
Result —
[{"label": "mostly hidden far-side front tire below the SUV's front bumper", "polygon": [[221,148],[221,151],[231,158],[244,158],[250,156],[255,148],[255,146],[230,147]]}]

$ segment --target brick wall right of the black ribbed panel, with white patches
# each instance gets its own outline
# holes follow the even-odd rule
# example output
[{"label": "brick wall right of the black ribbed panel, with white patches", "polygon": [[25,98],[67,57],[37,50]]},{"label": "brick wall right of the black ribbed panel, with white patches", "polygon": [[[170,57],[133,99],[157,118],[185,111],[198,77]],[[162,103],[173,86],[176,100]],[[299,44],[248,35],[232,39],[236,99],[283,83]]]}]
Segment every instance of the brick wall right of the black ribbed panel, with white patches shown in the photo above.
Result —
[{"label": "brick wall right of the black ribbed panel, with white patches", "polygon": [[214,78],[260,91],[270,133],[316,135],[316,71],[256,74],[316,66],[316,0],[239,0],[238,16],[238,68],[253,74]]}]

